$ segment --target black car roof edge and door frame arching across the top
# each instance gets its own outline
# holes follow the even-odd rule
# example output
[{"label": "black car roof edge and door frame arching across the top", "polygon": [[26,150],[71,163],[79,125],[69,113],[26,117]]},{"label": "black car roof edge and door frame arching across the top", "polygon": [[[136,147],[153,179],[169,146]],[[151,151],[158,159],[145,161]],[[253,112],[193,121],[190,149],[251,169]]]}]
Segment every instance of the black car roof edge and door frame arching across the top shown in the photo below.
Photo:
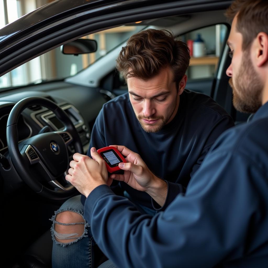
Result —
[{"label": "black car roof edge and door frame arching across the top", "polygon": [[[225,9],[231,2],[56,0],[0,29],[0,76],[60,44],[94,32],[94,29],[135,22],[136,18],[144,20],[144,16],[151,19]],[[167,12],[163,12],[164,9]],[[105,24],[110,18],[117,22]]]}]

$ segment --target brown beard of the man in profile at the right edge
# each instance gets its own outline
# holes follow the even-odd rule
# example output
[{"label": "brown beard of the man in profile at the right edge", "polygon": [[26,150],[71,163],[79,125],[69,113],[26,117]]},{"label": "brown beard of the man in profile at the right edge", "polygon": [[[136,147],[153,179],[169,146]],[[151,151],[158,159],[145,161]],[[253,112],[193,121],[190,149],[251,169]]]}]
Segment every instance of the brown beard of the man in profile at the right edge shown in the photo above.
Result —
[{"label": "brown beard of the man in profile at the right edge", "polygon": [[249,52],[244,52],[235,77],[229,79],[235,109],[243,113],[255,113],[262,106],[264,84],[253,67]]}]

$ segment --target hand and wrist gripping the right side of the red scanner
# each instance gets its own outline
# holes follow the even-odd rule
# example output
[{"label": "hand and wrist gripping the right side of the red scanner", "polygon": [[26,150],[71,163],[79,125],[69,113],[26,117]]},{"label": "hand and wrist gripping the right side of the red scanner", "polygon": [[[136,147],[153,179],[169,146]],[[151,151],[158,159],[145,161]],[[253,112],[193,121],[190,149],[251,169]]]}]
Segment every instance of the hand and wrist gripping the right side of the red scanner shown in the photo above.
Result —
[{"label": "hand and wrist gripping the right side of the red scanner", "polygon": [[139,154],[129,150],[125,146],[112,145],[121,154],[126,156],[127,163],[119,163],[124,174],[111,174],[111,179],[124,181],[132,188],[147,192],[160,206],[166,200],[168,185],[165,181],[155,176],[146,166]]}]

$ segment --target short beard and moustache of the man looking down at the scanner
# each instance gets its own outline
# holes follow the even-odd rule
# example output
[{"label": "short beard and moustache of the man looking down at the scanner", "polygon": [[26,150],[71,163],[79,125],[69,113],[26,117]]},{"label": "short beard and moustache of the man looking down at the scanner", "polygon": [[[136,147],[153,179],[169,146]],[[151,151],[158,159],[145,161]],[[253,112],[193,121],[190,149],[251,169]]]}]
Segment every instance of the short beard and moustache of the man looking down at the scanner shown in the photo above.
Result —
[{"label": "short beard and moustache of the man looking down at the scanner", "polygon": [[[163,116],[150,116],[150,117],[145,117],[145,116],[141,116],[141,115],[136,115],[137,120],[139,121],[140,125],[142,126],[143,130],[147,133],[156,133],[158,131],[160,131],[165,125],[166,123],[169,121],[170,117],[172,117],[174,111],[176,110],[177,107],[177,98],[178,96],[176,95],[176,99],[174,102],[174,105],[171,109],[171,112],[167,115],[166,118],[164,118]],[[155,125],[147,125],[144,122],[142,122],[142,119],[146,119],[146,120],[156,120],[156,119],[160,119],[162,120],[161,123],[158,126]],[[158,123],[158,121],[157,121]]]}]

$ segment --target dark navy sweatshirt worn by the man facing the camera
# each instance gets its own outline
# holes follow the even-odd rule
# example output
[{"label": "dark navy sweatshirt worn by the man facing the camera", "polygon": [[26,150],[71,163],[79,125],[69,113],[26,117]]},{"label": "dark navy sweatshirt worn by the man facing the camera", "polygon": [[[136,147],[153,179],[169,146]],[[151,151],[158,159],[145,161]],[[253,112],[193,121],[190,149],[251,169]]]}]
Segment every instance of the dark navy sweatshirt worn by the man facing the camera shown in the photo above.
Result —
[{"label": "dark navy sweatshirt worn by the man facing the camera", "polygon": [[[120,186],[133,202],[164,210],[178,193],[185,192],[215,140],[233,125],[229,114],[209,96],[184,90],[173,120],[159,132],[147,133],[137,120],[126,93],[103,105],[92,129],[90,148],[116,144],[138,153],[156,176],[168,182],[165,204],[160,208],[147,193],[126,183]],[[81,202],[85,202],[83,195]]]}]

